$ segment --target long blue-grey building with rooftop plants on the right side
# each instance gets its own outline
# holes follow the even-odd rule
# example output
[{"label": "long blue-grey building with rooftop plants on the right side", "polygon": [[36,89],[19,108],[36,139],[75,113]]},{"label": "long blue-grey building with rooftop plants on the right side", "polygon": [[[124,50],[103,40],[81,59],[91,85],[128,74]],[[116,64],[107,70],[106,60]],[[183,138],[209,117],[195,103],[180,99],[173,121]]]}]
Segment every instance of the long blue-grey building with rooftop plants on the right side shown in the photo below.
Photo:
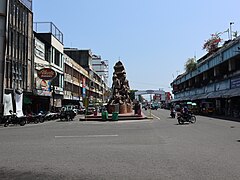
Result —
[{"label": "long blue-grey building with rooftop plants on the right side", "polygon": [[[240,117],[240,37],[197,61],[171,83],[175,102],[194,101],[200,112]],[[212,110],[211,110],[212,112]]]}]

